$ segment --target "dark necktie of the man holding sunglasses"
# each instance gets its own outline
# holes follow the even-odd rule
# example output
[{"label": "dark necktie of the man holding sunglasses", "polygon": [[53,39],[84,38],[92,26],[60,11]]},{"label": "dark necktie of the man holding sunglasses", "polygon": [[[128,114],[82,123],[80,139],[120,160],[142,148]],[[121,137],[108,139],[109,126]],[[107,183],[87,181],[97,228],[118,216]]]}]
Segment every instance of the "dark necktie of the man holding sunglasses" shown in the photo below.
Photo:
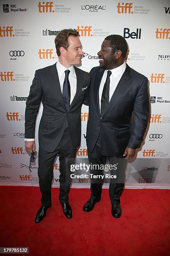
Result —
[{"label": "dark necktie of the man holding sunglasses", "polygon": [[67,109],[67,111],[70,107],[70,82],[68,80],[69,73],[70,73],[69,69],[65,70],[65,79],[64,79],[63,89],[62,89],[62,97],[63,97],[65,108]]}]

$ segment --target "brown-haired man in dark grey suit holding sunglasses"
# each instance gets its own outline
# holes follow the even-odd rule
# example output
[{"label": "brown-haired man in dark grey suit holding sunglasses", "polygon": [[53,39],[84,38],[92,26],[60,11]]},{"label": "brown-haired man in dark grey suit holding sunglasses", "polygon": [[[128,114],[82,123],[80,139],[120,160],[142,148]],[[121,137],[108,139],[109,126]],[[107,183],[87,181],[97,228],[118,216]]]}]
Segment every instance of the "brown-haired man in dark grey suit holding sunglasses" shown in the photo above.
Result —
[{"label": "brown-haired man in dark grey suit holding sunglasses", "polygon": [[58,61],[35,72],[25,109],[25,147],[35,151],[35,122],[42,101],[43,113],[39,126],[38,177],[41,207],[35,223],[45,217],[51,206],[53,164],[60,161],[60,195],[64,215],[72,218],[68,202],[71,184],[70,165],[74,164],[80,146],[82,104],[90,83],[90,75],[74,65],[81,64],[82,44],[76,30],[64,29],[55,38]]}]

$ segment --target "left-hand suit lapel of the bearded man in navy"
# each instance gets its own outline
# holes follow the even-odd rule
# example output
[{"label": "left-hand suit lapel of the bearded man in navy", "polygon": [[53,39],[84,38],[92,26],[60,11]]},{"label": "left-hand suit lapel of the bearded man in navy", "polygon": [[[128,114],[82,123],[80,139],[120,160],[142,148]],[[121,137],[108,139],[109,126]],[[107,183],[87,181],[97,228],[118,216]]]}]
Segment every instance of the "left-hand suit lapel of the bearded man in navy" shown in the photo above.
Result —
[{"label": "left-hand suit lapel of the bearded man in navy", "polygon": [[104,72],[105,72],[104,69],[99,69],[96,72],[95,79],[94,79],[94,102],[95,102],[97,113],[99,113],[99,115],[100,115],[99,87],[100,87],[100,83],[101,83]]}]

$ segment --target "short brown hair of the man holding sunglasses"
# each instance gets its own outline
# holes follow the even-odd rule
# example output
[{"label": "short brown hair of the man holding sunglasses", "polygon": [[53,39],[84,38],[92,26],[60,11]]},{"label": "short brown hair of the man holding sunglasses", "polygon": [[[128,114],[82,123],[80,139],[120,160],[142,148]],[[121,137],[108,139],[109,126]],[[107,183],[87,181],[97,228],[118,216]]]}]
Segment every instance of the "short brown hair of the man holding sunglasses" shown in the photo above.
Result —
[{"label": "short brown hair of the man holding sunglasses", "polygon": [[79,36],[79,33],[76,29],[63,29],[55,37],[55,48],[57,55],[60,56],[60,47],[68,48],[68,37],[69,36]]}]

